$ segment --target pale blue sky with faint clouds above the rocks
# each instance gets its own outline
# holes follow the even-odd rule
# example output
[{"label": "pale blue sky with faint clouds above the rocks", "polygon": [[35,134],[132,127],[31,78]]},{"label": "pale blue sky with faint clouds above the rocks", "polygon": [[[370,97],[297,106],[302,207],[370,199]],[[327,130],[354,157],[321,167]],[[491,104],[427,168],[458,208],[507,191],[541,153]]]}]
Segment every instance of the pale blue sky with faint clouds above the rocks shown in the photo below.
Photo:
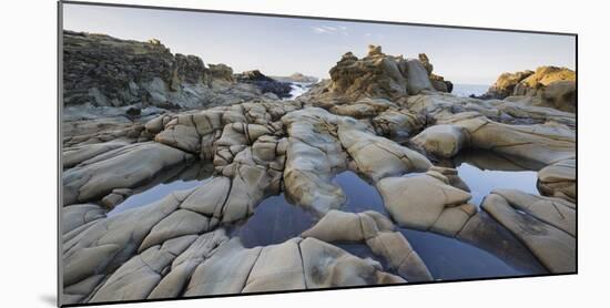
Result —
[{"label": "pale blue sky with faint clouds above the rocks", "polygon": [[575,69],[576,61],[570,35],[83,4],[64,4],[63,28],[139,41],[156,38],[174,53],[268,75],[328,78],[343,53],[363,57],[369,43],[407,58],[425,52],[435,72],[454,83],[491,84],[506,71]]}]

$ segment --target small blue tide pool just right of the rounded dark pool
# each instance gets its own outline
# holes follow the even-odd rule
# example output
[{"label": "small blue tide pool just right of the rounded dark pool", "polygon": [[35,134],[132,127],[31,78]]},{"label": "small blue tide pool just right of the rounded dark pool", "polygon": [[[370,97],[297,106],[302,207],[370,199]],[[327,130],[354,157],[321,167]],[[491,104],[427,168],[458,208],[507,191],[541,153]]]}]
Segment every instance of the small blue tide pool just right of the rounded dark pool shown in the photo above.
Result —
[{"label": "small blue tide pool just right of the rounded dark pool", "polygon": [[387,216],[384,201],[375,186],[368,184],[356,173],[346,171],[337,174],[334,182],[342,187],[347,196],[346,204],[340,208],[343,212],[377,211]]}]

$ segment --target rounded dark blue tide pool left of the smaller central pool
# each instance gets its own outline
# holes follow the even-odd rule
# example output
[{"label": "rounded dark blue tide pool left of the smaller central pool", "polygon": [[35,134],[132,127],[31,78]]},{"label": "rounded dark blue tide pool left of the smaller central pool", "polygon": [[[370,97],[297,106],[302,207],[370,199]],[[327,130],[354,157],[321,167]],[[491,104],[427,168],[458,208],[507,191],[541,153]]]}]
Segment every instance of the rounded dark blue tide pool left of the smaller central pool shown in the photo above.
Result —
[{"label": "rounded dark blue tide pool left of the smaller central pool", "polygon": [[254,214],[230,230],[230,235],[238,236],[244,247],[250,248],[283,243],[313,225],[312,213],[289,204],[281,194],[261,202]]}]

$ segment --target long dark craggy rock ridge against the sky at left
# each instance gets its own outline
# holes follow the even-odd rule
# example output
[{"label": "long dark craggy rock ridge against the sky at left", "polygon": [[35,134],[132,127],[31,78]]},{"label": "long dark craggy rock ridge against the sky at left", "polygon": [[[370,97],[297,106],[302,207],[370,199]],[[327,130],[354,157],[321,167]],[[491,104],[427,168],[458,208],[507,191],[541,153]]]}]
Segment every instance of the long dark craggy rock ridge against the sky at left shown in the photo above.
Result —
[{"label": "long dark craggy rock ridge against the sky at left", "polygon": [[254,84],[235,82],[230,66],[173,54],[155,39],[139,42],[65,30],[63,68],[64,120],[70,121],[125,115],[132,105],[159,113],[263,95]]}]

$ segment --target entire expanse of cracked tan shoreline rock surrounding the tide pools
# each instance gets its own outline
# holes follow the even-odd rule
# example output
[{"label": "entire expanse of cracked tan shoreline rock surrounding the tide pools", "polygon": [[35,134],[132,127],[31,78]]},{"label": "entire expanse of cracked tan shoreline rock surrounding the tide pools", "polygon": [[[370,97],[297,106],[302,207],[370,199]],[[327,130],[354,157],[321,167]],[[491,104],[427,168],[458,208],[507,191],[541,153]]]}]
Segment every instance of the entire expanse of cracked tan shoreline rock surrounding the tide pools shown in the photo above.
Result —
[{"label": "entire expanse of cracked tan shoreline rock surrounding the tide pools", "polygon": [[[514,265],[530,266],[533,256],[548,273],[576,270],[576,95],[549,104],[566,79],[546,76],[563,71],[511,78],[517,85],[502,93],[528,102],[459,97],[425,54],[404,59],[372,45],[360,59],[345,53],[329,80],[281,100],[285,81],[206,68],[157,41],[74,32],[64,41],[64,110],[78,110],[63,123],[64,304],[435,280],[399,228],[455,238]],[[120,63],[146,64],[135,75],[105,62],[89,68],[82,54],[91,44],[108,44]],[[119,80],[100,78],[110,72]],[[522,90],[531,76],[537,85]],[[95,104],[163,111],[73,121]],[[497,187],[470,203],[445,163],[466,151],[542,166],[540,194]],[[210,181],[106,215],[132,189],[193,161],[213,164]],[[342,211],[347,196],[334,178],[344,171],[374,186],[387,214]],[[278,194],[316,222],[281,244],[246,248],[231,236]],[[365,245],[375,258],[342,243]]]}]

